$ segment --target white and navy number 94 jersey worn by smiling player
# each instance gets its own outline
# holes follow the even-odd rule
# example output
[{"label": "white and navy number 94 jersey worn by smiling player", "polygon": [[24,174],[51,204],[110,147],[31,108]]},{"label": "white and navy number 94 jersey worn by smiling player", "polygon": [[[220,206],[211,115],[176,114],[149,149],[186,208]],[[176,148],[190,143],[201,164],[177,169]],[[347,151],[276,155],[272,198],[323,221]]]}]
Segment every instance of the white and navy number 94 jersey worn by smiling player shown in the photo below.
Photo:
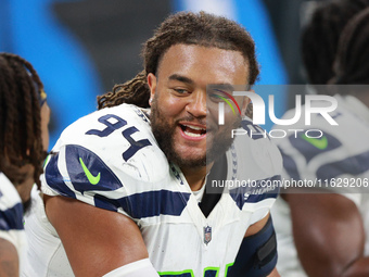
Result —
[{"label": "white and navy number 94 jersey worn by smiling player", "polygon": [[[247,124],[252,123],[243,122]],[[180,168],[158,148],[149,118],[135,105],[103,109],[78,119],[63,131],[53,151],[46,163],[43,193],[135,221],[161,276],[226,276],[247,227],[267,215],[278,193],[230,188],[205,217]],[[226,156],[229,180],[280,179],[281,156],[268,138],[238,136]],[[73,276],[42,201],[26,226],[31,229],[29,256],[38,261],[24,276],[27,270],[40,277]]]}]

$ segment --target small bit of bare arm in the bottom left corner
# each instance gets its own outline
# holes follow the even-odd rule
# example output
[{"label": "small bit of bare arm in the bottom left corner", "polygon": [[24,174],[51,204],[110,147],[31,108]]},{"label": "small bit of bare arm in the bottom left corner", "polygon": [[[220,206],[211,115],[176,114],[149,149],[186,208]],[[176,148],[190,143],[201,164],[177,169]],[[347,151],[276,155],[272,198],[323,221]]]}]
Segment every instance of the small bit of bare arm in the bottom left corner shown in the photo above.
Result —
[{"label": "small bit of bare arm in the bottom left corner", "polygon": [[17,277],[18,268],[18,254],[15,247],[9,240],[0,238],[0,276]]}]

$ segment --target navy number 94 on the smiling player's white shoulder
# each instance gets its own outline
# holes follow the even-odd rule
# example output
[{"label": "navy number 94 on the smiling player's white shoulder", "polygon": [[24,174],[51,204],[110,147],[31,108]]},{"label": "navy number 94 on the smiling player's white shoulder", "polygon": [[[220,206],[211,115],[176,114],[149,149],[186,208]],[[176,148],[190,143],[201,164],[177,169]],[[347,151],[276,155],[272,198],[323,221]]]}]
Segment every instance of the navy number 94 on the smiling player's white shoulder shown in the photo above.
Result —
[{"label": "navy number 94 on the smiling player's white shoulder", "polygon": [[[116,116],[114,114],[106,114],[104,116],[101,116],[98,119],[100,123],[106,125],[106,128],[103,130],[98,129],[91,129],[86,131],[86,135],[96,135],[101,138],[107,137],[111,135],[114,130],[117,130],[124,126],[127,125],[127,122],[119,116]],[[135,126],[131,126],[124,131],[122,131],[122,135],[127,139],[127,141],[130,143],[130,147],[122,154],[123,159],[127,162],[132,155],[137,153],[141,148],[151,146],[151,142],[149,139],[141,139],[141,140],[135,140],[131,135],[139,131]]]}]

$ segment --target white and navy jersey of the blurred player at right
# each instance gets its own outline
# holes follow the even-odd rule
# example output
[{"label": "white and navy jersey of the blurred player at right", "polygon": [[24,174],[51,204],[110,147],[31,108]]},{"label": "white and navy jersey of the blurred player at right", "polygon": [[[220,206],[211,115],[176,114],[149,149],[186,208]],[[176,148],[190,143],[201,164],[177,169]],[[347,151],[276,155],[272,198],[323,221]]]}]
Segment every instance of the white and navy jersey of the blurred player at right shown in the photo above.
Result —
[{"label": "white and navy jersey of the blurred player at right", "polygon": [[[356,184],[360,184],[361,180],[362,185],[368,185],[369,109],[352,96],[334,96],[334,98],[338,100],[338,108],[331,115],[339,124],[338,126],[329,125],[321,115],[315,114],[311,116],[310,126],[298,123],[293,127],[276,127],[304,131],[319,129],[323,134],[321,138],[306,139],[304,131],[300,131],[296,137],[292,133],[293,135],[290,134],[287,138],[275,139],[283,156],[282,179],[313,181],[320,179],[322,189],[340,193],[354,201],[362,216],[367,238],[365,254],[369,255],[368,186],[345,188],[342,182],[340,185],[342,188],[338,186],[326,188],[327,181],[333,180],[339,184],[340,178],[357,180]],[[292,118],[294,112],[294,110],[289,111],[283,117]],[[316,188],[319,187],[316,186]],[[288,203],[282,198],[278,198],[271,214],[278,241],[278,272],[283,277],[306,277],[293,242],[291,212]]]}]

